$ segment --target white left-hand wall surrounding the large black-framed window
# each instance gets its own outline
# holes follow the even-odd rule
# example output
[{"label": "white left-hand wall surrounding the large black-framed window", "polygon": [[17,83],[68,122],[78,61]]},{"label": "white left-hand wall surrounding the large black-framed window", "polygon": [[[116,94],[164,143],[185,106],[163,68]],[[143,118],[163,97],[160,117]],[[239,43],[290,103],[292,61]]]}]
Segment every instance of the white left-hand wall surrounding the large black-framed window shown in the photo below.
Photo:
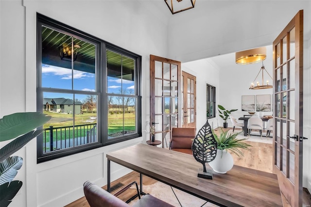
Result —
[{"label": "white left-hand wall surrounding the large black-framed window", "polygon": [[[167,21],[141,1],[0,0],[0,117],[36,111],[36,12],[142,56],[142,123],[149,122],[149,55],[167,56]],[[155,14],[158,16],[156,17]],[[146,89],[147,88],[147,89]],[[84,196],[86,180],[106,185],[106,153],[136,138],[36,164],[36,140],[16,155],[22,189],[10,206],[64,206]],[[1,143],[1,147],[6,143]],[[112,165],[112,180],[129,173]]]}]

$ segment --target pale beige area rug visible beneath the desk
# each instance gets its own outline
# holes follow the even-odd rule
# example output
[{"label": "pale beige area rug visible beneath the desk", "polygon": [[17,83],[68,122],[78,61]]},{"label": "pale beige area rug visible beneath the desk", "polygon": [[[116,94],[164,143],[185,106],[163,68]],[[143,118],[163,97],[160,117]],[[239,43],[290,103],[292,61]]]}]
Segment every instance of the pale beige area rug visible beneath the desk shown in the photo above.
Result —
[{"label": "pale beige area rug visible beneath the desk", "polygon": [[[184,191],[175,188],[172,190],[169,185],[161,182],[156,182],[155,184],[148,186],[143,185],[142,190],[145,193],[149,193],[154,197],[173,205],[174,207],[218,207]],[[180,204],[176,197],[178,198]],[[129,204],[133,206],[135,203],[136,201],[131,201]]]}]

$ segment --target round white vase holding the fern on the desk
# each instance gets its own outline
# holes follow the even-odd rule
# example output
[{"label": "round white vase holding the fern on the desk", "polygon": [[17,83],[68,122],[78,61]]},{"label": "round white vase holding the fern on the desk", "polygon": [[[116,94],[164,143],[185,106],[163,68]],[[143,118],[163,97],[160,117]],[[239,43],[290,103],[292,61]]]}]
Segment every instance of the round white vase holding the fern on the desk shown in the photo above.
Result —
[{"label": "round white vase holding the fern on the desk", "polygon": [[233,157],[229,152],[217,149],[215,159],[208,164],[216,173],[225,174],[233,167]]}]

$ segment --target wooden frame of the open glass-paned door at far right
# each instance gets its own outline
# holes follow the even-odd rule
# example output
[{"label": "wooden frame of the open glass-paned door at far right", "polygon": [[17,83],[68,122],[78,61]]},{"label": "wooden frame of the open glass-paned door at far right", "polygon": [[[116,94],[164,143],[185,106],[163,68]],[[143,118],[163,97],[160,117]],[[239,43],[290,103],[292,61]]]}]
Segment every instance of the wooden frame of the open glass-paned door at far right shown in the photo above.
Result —
[{"label": "wooden frame of the open glass-paned door at far right", "polygon": [[[289,24],[284,28],[284,30],[277,36],[276,40],[273,42],[273,69],[274,69],[274,91],[273,91],[273,100],[275,102],[275,92],[276,92],[276,78],[277,77],[277,44],[279,39],[283,39],[285,36],[288,37],[288,31],[295,27],[295,106],[303,106],[303,10],[300,10],[295,17],[289,22]],[[287,39],[287,42],[290,42],[290,39]],[[281,44],[280,44],[281,45]],[[289,52],[289,47],[287,52]],[[282,50],[282,49],[281,49]],[[288,54],[287,54],[288,55]],[[282,57],[280,57],[282,58]],[[281,64],[282,61],[280,61]],[[296,71],[299,71],[299,75]],[[282,77],[280,77],[282,78]],[[289,80],[287,80],[289,81]],[[297,83],[299,85],[297,86]],[[276,105],[276,103],[274,103]],[[288,107],[288,106],[287,106]],[[275,107],[276,109],[276,107]],[[282,109],[281,109],[282,110]],[[299,113],[296,113],[295,109],[295,135],[302,137],[303,134],[303,107],[298,107]],[[288,113],[288,110],[287,110]],[[274,118],[276,118],[276,110],[273,112]],[[274,132],[276,132],[276,126],[274,124]],[[276,138],[273,133],[273,173],[277,174],[278,182],[280,185],[280,190],[283,189],[282,193],[287,198],[292,206],[302,206],[302,150],[303,150],[303,141],[295,141],[295,164],[294,164],[294,177],[298,176],[298,179],[295,179],[294,185],[291,184],[288,178],[277,168],[277,157],[276,157]],[[294,135],[290,135],[294,136]],[[281,139],[281,138],[280,138]],[[296,155],[298,153],[298,155]],[[281,157],[280,157],[281,159]],[[286,166],[289,170],[289,166]],[[294,195],[294,196],[292,196]]]}]

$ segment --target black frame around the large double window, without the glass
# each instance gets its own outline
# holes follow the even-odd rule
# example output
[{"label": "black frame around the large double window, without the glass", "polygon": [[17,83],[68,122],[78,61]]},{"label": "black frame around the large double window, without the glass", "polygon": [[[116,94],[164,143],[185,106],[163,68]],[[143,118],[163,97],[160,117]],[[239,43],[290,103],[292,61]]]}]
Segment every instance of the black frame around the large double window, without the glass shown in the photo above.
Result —
[{"label": "black frame around the large double window, without the glass", "polygon": [[[97,103],[97,138],[98,141],[90,144],[75,146],[72,148],[57,150],[53,152],[43,153],[43,136],[40,135],[37,137],[37,163],[49,161],[52,159],[57,159],[60,157],[74,155],[77,153],[85,152],[88,150],[96,149],[110,144],[119,143],[125,140],[138,138],[142,136],[141,129],[141,55],[138,55],[134,52],[127,51],[119,46],[106,42],[100,38],[97,38],[93,35],[86,34],[78,29],[75,29],[69,25],[56,21],[50,17],[46,17],[42,14],[37,13],[37,55],[36,55],[36,68],[37,68],[37,111],[42,112],[42,100],[43,92],[53,92],[51,88],[42,87],[42,26],[52,28],[57,31],[61,31],[65,34],[75,36],[77,38],[85,39],[86,41],[95,44],[98,49],[96,49],[96,92],[94,95],[98,95]],[[108,139],[108,102],[107,96],[109,95],[106,91],[106,80],[107,80],[107,70],[106,70],[106,49],[119,52],[123,55],[131,57],[136,61],[135,67],[135,97],[137,98],[136,103],[136,133],[125,135],[117,138]],[[99,88],[98,88],[99,87]],[[74,91],[72,89],[72,91]],[[42,128],[42,127],[41,127]]]}]

